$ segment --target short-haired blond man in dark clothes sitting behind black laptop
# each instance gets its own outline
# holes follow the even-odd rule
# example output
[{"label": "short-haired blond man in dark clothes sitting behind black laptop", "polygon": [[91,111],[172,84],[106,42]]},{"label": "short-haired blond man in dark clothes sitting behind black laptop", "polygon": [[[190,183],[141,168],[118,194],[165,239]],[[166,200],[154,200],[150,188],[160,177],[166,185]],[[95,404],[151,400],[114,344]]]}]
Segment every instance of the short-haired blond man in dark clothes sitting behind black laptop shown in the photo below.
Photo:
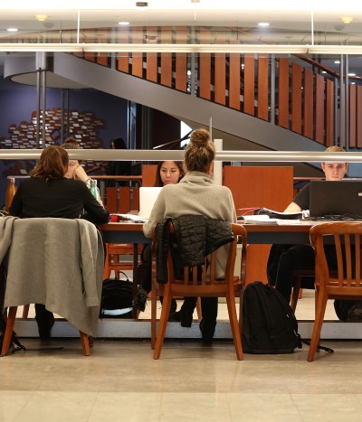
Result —
[{"label": "short-haired blond man in dark clothes sitting behind black laptop", "polygon": [[[326,153],[343,153],[339,146],[329,146]],[[348,169],[347,163],[321,163],[327,181],[338,181],[345,177]],[[310,184],[304,186],[296,195],[284,212],[298,212],[310,209]],[[329,262],[335,261],[334,254],[330,254]],[[288,303],[291,300],[293,286],[293,272],[297,268],[314,268],[314,249],[310,245],[272,245],[267,264],[268,282],[281,292]],[[314,278],[307,278],[308,285],[314,288]],[[302,282],[304,284],[304,280]],[[338,306],[335,304],[335,306]],[[339,317],[338,308],[336,312]],[[342,319],[342,318],[341,318]],[[343,318],[345,319],[345,318]],[[346,318],[347,319],[347,318]]]}]

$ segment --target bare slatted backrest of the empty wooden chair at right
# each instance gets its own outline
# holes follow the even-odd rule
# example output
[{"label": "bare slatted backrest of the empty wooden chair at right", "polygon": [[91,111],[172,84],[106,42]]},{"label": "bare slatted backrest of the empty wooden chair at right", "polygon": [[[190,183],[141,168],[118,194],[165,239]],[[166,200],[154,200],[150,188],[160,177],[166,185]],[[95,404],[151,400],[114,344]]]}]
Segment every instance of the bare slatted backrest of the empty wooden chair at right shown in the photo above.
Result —
[{"label": "bare slatted backrest of the empty wooden chair at right", "polygon": [[310,229],[317,286],[331,287],[336,294],[339,288],[345,290],[344,295],[357,295],[357,289],[362,293],[361,236],[362,222],[330,222]]}]

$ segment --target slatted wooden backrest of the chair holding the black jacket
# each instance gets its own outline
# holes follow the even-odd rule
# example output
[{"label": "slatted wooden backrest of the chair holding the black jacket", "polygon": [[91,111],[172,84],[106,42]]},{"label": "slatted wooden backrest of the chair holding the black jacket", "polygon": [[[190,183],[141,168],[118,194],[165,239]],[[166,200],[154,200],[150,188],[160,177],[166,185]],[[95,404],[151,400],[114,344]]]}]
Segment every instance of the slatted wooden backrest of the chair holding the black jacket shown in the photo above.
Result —
[{"label": "slatted wooden backrest of the chair holding the black jacket", "polygon": [[[172,283],[173,285],[178,286],[197,286],[198,290],[202,290],[204,288],[210,288],[215,286],[217,287],[223,286],[227,283],[233,283],[234,281],[234,264],[235,264],[235,257],[236,257],[236,247],[237,244],[242,244],[242,257],[241,257],[241,266],[239,274],[239,280],[242,280],[244,283],[246,277],[246,236],[247,232],[243,228],[243,226],[239,224],[232,224],[233,230],[233,242],[229,243],[227,246],[228,253],[227,253],[227,260],[226,266],[224,270],[224,278],[218,279],[215,274],[216,268],[216,258],[217,254],[220,249],[214,250],[210,255],[205,257],[204,264],[199,267],[184,267],[183,270],[183,277],[176,277],[176,271],[174,267],[174,262],[172,258],[171,251],[168,251],[167,255],[167,282]],[[170,232],[174,233],[175,229],[173,224],[170,225]],[[221,247],[224,248],[224,247]],[[152,273],[153,278],[156,278],[157,275],[157,233],[156,230],[153,234],[152,240]],[[211,288],[211,293],[212,293]]]}]

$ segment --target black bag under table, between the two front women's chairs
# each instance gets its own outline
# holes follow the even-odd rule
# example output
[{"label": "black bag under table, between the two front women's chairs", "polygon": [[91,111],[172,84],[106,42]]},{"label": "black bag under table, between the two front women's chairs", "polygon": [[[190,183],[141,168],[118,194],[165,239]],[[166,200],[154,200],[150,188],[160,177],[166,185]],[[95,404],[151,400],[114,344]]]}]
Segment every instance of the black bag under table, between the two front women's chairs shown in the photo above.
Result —
[{"label": "black bag under table, between the two front women's chairs", "polygon": [[103,281],[100,318],[132,318],[132,282],[123,275],[123,279],[107,278]]}]

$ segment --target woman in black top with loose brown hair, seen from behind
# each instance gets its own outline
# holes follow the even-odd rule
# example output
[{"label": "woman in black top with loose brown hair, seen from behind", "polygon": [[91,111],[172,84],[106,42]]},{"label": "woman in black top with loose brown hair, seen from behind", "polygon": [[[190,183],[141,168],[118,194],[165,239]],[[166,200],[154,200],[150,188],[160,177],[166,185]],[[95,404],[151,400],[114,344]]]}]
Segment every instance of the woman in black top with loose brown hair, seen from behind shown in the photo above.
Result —
[{"label": "woman in black top with loose brown hair, seen from behind", "polygon": [[[80,180],[67,179],[68,153],[60,146],[48,146],[30,178],[17,189],[9,213],[20,218],[55,217],[77,219],[84,217],[96,224],[106,223],[110,214]],[[35,319],[41,339],[50,338],[54,317],[44,305],[35,304]]]}]

